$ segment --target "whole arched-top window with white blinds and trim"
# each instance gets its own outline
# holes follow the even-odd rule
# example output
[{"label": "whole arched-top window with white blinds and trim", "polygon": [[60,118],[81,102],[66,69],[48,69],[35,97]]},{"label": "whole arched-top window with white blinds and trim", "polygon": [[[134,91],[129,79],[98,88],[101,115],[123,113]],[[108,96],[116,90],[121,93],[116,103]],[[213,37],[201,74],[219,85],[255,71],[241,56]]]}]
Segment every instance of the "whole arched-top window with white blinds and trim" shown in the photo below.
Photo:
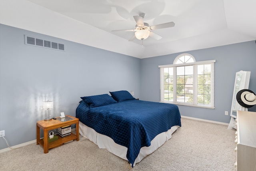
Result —
[{"label": "whole arched-top window with white blinds and trim", "polygon": [[160,68],[160,102],[214,109],[215,60],[196,62],[181,54]]}]

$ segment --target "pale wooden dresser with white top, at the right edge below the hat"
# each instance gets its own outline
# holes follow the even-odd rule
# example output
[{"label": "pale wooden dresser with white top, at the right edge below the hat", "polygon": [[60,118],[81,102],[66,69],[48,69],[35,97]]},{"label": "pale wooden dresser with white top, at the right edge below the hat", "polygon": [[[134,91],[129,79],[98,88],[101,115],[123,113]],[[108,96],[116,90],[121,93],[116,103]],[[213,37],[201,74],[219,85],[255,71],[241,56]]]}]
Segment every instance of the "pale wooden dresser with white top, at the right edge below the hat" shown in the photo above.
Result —
[{"label": "pale wooden dresser with white top, at the right edge below the hat", "polygon": [[256,112],[237,111],[237,171],[256,171]]}]

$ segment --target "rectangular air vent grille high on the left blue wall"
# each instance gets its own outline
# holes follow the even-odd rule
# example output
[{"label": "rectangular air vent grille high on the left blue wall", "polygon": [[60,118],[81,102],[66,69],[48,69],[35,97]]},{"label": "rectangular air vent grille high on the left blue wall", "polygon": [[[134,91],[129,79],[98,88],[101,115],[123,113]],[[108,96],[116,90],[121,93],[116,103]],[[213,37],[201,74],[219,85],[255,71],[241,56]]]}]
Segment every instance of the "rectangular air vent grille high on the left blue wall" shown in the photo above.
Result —
[{"label": "rectangular air vent grille high on the left blue wall", "polygon": [[64,51],[64,44],[25,35],[25,44]]}]

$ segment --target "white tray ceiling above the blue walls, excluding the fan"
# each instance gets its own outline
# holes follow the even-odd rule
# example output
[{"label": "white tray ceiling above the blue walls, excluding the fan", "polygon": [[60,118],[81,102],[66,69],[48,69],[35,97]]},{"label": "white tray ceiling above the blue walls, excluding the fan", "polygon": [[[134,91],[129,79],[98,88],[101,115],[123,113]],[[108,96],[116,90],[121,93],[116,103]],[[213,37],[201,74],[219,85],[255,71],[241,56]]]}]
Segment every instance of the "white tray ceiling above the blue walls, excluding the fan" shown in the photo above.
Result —
[{"label": "white tray ceiling above the blue walls, excluding the fan", "polygon": [[[148,58],[256,40],[256,0],[0,0],[0,23]],[[161,40],[128,40],[133,16],[145,13]]]}]

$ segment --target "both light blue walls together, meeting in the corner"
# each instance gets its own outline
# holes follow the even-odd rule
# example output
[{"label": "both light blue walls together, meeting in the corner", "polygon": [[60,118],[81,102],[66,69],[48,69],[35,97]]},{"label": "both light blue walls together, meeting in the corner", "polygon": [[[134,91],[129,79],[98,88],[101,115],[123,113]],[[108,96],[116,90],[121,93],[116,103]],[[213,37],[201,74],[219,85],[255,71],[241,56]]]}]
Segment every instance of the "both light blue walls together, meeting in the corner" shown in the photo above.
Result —
[{"label": "both light blue walls together, meeting in the corner", "polygon": [[[65,51],[24,44],[24,35],[65,44]],[[179,105],[181,115],[228,123],[235,73],[251,71],[256,92],[254,41],[190,53],[196,61],[216,60],[215,109]],[[138,59],[0,24],[0,130],[10,146],[36,139],[36,121],[46,117],[42,101],[54,101],[52,117],[75,116],[80,97],[133,90],[135,97],[159,101],[158,65],[182,53]],[[256,106],[249,108],[256,111]],[[7,145],[0,139],[0,149]]]}]

